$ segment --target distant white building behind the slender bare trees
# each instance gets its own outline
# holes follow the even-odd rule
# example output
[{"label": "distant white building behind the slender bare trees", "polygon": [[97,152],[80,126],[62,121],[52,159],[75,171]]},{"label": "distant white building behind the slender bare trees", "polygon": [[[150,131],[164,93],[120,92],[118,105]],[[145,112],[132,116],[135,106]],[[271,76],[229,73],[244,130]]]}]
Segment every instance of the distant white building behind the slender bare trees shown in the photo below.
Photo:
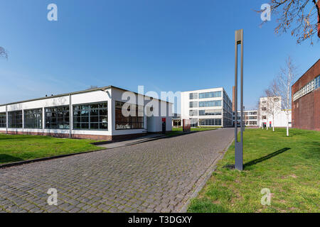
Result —
[{"label": "distant white building behind the slender bare trees", "polygon": [[[259,127],[262,127],[263,123],[268,127],[287,127],[287,114],[282,110],[281,102],[281,96],[260,98],[257,121]],[[291,127],[291,119],[291,110],[289,110],[289,127]]]}]

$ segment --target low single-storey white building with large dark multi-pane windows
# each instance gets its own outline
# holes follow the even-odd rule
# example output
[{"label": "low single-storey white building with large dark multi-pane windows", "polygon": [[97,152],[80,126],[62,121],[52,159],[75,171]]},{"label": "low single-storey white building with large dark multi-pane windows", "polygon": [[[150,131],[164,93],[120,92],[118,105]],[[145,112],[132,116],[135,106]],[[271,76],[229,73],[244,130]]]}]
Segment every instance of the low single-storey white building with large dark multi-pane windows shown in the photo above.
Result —
[{"label": "low single-storey white building with large dark multi-pane windows", "polygon": [[167,101],[108,86],[0,105],[0,133],[117,140],[171,131],[171,113]]}]

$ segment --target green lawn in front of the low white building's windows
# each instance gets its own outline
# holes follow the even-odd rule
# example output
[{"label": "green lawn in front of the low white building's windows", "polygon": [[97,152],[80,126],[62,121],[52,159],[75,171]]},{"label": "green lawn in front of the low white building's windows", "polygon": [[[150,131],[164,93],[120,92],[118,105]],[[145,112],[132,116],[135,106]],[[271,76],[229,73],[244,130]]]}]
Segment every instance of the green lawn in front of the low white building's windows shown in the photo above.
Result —
[{"label": "green lawn in front of the low white building's windows", "polygon": [[90,144],[93,142],[41,135],[0,134],[0,164],[105,149]]}]

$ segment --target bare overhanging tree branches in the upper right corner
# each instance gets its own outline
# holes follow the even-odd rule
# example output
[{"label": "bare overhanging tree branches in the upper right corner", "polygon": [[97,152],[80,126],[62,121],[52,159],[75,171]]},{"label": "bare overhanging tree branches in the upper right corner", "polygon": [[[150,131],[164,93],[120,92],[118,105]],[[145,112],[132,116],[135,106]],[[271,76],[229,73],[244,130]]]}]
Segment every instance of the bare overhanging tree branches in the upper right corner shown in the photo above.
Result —
[{"label": "bare overhanging tree branches in the upper right corner", "polygon": [[310,38],[311,45],[317,31],[320,38],[320,0],[270,0],[269,4],[272,15],[277,15],[275,33],[291,31],[297,43]]}]

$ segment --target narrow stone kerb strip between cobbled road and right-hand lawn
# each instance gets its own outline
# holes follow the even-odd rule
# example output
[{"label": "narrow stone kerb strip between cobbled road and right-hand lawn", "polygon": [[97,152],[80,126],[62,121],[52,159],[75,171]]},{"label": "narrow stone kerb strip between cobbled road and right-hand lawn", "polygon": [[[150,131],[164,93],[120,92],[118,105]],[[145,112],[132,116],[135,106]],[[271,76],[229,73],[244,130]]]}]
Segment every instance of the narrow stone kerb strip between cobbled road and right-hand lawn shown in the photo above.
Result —
[{"label": "narrow stone kerb strip between cobbled road and right-hand lawn", "polygon": [[[206,170],[206,172],[199,177],[198,181],[196,182],[196,184],[198,184],[196,186],[196,189],[193,189],[193,192],[191,194],[191,196],[189,196],[188,200],[186,201],[186,203],[182,206],[182,208],[180,209],[180,211],[178,211],[178,213],[187,213],[188,211],[188,207],[191,203],[192,199],[195,199],[199,192],[203,189],[203,187],[206,185],[206,183],[208,182],[208,179],[210,179],[210,177],[212,176],[213,172],[215,172],[216,168],[217,168],[217,164],[218,161],[220,161],[223,156],[225,155],[225,153],[229,150],[230,145],[233,144],[233,141],[235,140],[235,138],[233,138],[230,143],[223,149],[223,152],[217,157],[215,158],[215,160],[213,161],[213,163],[210,165],[210,167],[208,167],[208,169]],[[201,180],[201,178],[203,178]],[[200,181],[200,183],[199,183]],[[195,185],[196,185],[195,184]]]}]

